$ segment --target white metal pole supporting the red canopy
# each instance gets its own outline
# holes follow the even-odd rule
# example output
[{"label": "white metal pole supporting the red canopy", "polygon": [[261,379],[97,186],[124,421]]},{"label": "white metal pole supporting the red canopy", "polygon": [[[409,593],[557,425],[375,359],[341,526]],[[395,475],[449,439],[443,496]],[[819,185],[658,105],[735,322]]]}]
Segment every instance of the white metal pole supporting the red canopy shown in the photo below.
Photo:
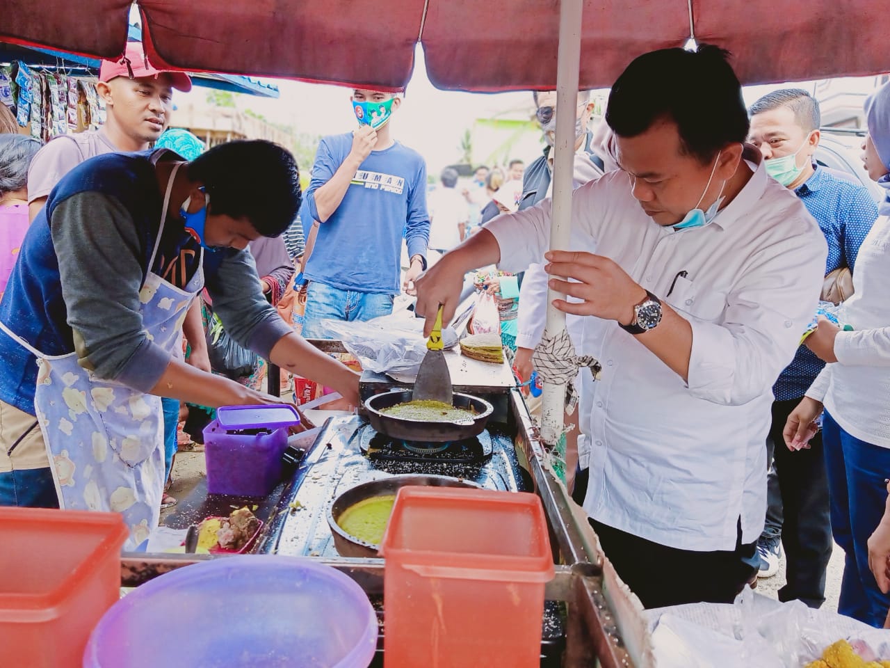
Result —
[{"label": "white metal pole supporting the red canopy", "polygon": [[[553,221],[550,248],[569,248],[571,232],[572,172],[575,159],[575,120],[578,110],[578,71],[581,57],[583,0],[562,0],[559,17],[559,51],[556,64],[556,139],[554,143]],[[554,299],[565,295],[547,290],[546,332],[565,329],[565,314],[554,308]],[[541,439],[555,445],[562,435],[565,386],[545,383],[542,397]]]}]

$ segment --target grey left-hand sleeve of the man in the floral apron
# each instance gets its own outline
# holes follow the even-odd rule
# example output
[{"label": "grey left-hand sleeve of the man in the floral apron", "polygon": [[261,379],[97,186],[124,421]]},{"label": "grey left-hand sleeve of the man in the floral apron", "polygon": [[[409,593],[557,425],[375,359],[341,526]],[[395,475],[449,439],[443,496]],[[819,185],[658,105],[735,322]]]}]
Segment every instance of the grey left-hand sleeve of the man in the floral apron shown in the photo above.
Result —
[{"label": "grey left-hand sleeve of the man in the floral apron", "polygon": [[77,363],[148,392],[170,355],[142,328],[144,251],[133,216],[115,198],[82,192],[54,208],[50,232]]}]

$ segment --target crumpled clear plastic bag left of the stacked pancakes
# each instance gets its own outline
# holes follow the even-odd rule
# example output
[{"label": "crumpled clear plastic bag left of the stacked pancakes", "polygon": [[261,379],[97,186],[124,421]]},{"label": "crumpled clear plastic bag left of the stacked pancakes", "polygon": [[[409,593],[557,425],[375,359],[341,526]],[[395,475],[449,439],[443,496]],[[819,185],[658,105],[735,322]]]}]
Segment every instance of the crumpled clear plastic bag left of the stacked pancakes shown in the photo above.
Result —
[{"label": "crumpled clear plastic bag left of the stacked pancakes", "polygon": [[[366,371],[417,376],[426,354],[424,320],[410,314],[384,315],[368,321],[324,320],[321,324],[328,337],[342,341]],[[444,328],[442,342],[447,348],[456,346],[455,331]]]}]

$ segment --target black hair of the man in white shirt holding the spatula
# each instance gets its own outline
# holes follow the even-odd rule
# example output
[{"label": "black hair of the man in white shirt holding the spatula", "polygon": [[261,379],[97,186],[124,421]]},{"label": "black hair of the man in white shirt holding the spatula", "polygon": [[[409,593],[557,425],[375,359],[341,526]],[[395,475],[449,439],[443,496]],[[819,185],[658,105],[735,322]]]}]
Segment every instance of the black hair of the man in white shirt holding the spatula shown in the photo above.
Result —
[{"label": "black hair of the man in white shirt holding the spatula", "polygon": [[609,94],[606,123],[619,137],[643,134],[656,121],[677,126],[680,150],[702,163],[748,137],[748,110],[729,52],[714,45],[643,53]]}]

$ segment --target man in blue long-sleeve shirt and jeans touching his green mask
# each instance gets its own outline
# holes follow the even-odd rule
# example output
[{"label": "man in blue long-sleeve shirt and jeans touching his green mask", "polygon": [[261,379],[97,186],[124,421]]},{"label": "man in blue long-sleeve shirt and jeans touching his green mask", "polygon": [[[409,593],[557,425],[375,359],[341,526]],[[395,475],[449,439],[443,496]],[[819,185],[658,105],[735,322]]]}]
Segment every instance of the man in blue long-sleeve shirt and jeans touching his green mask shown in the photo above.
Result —
[{"label": "man in blue long-sleeve shirt and jeans touching his green mask", "polygon": [[[303,272],[309,281],[303,336],[324,338],[322,320],[370,320],[392,313],[401,289],[426,267],[430,217],[426,165],[417,151],[392,139],[401,98],[356,88],[359,129],[325,137],[312,166],[303,229],[320,226]],[[400,286],[401,240],[410,266]]]}]

